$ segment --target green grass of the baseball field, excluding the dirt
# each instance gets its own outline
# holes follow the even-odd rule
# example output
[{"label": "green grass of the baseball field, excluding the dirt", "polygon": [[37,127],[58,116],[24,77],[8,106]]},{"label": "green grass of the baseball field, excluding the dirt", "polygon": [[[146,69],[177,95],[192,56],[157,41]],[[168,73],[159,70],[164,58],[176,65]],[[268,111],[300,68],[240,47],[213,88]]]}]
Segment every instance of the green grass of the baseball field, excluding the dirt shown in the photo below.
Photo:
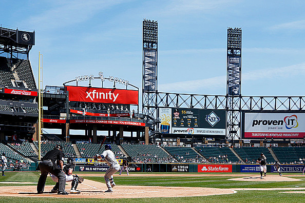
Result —
[{"label": "green grass of the baseball field, excluding the dirt", "polygon": [[[84,172],[85,173],[85,172]],[[78,173],[80,176],[84,173]],[[100,174],[95,172],[94,174]],[[140,173],[143,174],[143,173]],[[151,174],[151,173],[150,173]],[[158,174],[158,173],[156,173]],[[175,173],[171,173],[175,174]],[[192,173],[186,173],[192,175]],[[194,173],[198,174],[198,173]],[[221,173],[219,173],[221,174]],[[168,177],[131,177],[131,176],[115,176],[117,185],[141,185],[141,186],[182,186],[182,187],[211,187],[211,188],[285,188],[285,187],[305,187],[305,181],[285,181],[285,182],[255,182],[255,181],[234,181],[227,180],[234,177],[228,176],[168,176]],[[240,174],[240,173],[238,173]],[[275,174],[275,173],[274,173]],[[11,172],[6,173],[7,176],[0,176],[0,181],[14,182],[37,182],[39,172]],[[247,173],[244,176],[257,175]],[[290,174],[284,174],[289,177]],[[299,175],[299,174],[298,174]],[[240,177],[240,176],[239,176]],[[101,177],[91,176],[85,177],[90,180],[104,182],[103,175]],[[305,180],[305,177],[292,177]],[[48,178],[48,185],[54,185],[54,182]],[[16,184],[13,184],[16,185]],[[0,184],[0,186],[9,186]],[[16,186],[20,186],[17,184]],[[296,187],[296,188],[297,188]],[[194,190],[194,189],[192,189]],[[196,190],[196,189],[195,189]],[[190,191],[191,193],[192,191]],[[43,195],[42,195],[43,196]],[[0,202],[304,202],[305,194],[279,193],[279,191],[238,191],[235,194],[213,195],[203,197],[178,197],[178,198],[138,198],[135,199],[94,199],[94,198],[28,198],[28,197],[1,197]]]}]

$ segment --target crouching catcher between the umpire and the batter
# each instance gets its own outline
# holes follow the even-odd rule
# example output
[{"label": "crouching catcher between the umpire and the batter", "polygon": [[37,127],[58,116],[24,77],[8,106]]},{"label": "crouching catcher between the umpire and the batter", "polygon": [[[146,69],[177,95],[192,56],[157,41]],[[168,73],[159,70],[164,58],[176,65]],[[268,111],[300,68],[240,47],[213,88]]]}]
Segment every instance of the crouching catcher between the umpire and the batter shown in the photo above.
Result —
[{"label": "crouching catcher between the umpire and the batter", "polygon": [[[75,160],[72,158],[68,158],[67,164],[64,166],[63,171],[66,175],[66,182],[72,181],[70,193],[77,194],[77,193],[81,193],[81,191],[77,190],[77,187],[79,183],[82,183],[84,181],[84,178],[79,177],[77,174],[72,175],[74,168],[75,168]],[[51,193],[58,192],[58,188],[59,188],[58,178],[55,175],[52,175],[51,177],[52,180],[56,182],[56,185],[51,190]]]}]

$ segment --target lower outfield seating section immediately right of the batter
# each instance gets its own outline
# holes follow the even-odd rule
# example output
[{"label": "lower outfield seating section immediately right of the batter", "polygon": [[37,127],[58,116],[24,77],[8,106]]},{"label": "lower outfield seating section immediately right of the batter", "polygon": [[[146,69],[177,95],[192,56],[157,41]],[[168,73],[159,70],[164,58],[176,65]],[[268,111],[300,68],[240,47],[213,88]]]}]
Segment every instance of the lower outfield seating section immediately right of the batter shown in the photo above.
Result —
[{"label": "lower outfield seating section immediately right of the batter", "polygon": [[122,144],[121,147],[136,163],[175,163],[175,159],[169,156],[157,145]]}]

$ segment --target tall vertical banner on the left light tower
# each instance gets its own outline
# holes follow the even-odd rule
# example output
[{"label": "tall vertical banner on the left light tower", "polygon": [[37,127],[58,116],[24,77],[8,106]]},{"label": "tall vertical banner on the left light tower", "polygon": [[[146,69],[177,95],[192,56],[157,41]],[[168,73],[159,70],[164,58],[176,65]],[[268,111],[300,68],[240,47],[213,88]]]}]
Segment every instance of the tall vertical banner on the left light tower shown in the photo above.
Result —
[{"label": "tall vertical banner on the left light tower", "polygon": [[144,49],[144,90],[157,90],[157,50]]}]

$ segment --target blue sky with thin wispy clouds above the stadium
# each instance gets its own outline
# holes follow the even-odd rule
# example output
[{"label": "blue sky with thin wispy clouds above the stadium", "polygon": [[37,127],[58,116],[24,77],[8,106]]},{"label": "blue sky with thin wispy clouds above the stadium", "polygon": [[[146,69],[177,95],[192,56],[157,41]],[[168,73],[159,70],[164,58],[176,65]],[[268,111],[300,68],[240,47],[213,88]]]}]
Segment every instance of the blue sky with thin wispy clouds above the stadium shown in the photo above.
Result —
[{"label": "blue sky with thin wispy clouds above the stadium", "polygon": [[5,0],[0,5],[3,27],[35,30],[30,60],[37,80],[38,52],[44,55],[44,85],[62,86],[102,71],[141,89],[147,18],[159,26],[161,92],[225,95],[227,27],[241,27],[242,95],[305,95],[303,1]]}]

